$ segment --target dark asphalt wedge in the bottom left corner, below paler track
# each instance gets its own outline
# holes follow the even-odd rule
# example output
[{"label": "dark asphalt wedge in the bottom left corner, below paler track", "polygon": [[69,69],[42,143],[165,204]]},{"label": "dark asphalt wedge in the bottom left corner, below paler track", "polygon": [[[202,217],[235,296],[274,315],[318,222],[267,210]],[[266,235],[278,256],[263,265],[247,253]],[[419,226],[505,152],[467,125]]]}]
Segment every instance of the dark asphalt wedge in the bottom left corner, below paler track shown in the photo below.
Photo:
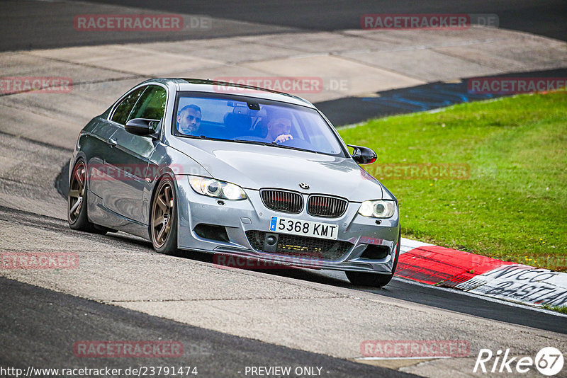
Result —
[{"label": "dark asphalt wedge in the bottom left corner, below paler track", "polygon": [[[0,296],[8,316],[0,319],[3,353],[0,366],[26,370],[33,367],[100,368],[97,360],[83,359],[70,366],[77,340],[177,340],[184,345],[184,358],[176,366],[197,367],[205,377],[232,377],[246,366],[291,366],[306,362],[324,367],[332,377],[416,377],[412,374],[303,352],[257,340],[186,326],[137,311],[101,305],[0,277]],[[69,327],[72,325],[72,327]],[[46,365],[45,356],[49,355]],[[123,370],[143,365],[171,365],[167,358],[121,358],[112,363]],[[104,365],[104,364],[103,364]],[[191,370],[192,371],[192,370]],[[327,373],[328,372],[328,373]]]}]

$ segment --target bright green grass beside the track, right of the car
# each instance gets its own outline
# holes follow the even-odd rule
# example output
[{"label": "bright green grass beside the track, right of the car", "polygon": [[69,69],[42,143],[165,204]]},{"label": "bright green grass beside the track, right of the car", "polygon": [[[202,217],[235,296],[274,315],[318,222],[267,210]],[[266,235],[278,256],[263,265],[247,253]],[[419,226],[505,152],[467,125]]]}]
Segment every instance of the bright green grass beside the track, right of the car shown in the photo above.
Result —
[{"label": "bright green grass beside the track, right of the car", "polygon": [[400,202],[403,236],[567,270],[565,92],[370,120],[339,133],[374,149],[375,164],[470,166],[466,180],[381,180]]}]

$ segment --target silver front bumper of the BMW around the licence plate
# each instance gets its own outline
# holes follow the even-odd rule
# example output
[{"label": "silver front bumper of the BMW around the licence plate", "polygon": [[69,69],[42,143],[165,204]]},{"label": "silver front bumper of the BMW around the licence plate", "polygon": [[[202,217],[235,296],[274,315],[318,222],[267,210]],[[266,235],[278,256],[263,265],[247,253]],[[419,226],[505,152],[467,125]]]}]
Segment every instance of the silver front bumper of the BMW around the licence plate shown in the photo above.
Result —
[{"label": "silver front bumper of the BMW around the licence plate", "polygon": [[[359,202],[349,202],[347,211],[338,218],[313,217],[303,208],[299,214],[276,212],[264,206],[259,190],[245,189],[247,200],[220,200],[199,195],[189,185],[187,176],[176,176],[178,197],[178,247],[187,250],[206,251],[220,255],[244,256],[266,262],[282,263],[305,268],[352,270],[391,274],[395,253],[398,251],[400,222],[398,209],[393,217],[376,219],[358,214]],[[308,195],[303,195],[307,203]],[[286,217],[303,221],[337,224],[338,241],[350,244],[347,251],[332,260],[321,258],[285,258],[281,253],[267,253],[252,247],[247,231],[269,231],[271,217]],[[380,224],[376,224],[376,220]],[[214,224],[225,227],[228,241],[206,239],[198,236],[195,228],[199,224]],[[388,253],[381,258],[367,258],[369,246],[386,247]],[[386,251],[385,249],[382,249]],[[364,255],[364,256],[363,256]]]}]

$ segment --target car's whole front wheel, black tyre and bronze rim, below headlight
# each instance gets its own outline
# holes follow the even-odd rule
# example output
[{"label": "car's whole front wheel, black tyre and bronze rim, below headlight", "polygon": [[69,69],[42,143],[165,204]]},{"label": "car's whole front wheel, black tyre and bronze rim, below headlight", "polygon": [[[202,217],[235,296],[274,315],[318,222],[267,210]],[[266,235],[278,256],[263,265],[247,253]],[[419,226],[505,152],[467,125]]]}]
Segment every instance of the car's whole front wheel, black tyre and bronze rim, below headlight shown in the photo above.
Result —
[{"label": "car's whole front wheel, black tyre and bronze rim, below headlight", "polygon": [[171,178],[162,178],[152,200],[150,237],[156,252],[179,255],[177,249],[177,199]]}]

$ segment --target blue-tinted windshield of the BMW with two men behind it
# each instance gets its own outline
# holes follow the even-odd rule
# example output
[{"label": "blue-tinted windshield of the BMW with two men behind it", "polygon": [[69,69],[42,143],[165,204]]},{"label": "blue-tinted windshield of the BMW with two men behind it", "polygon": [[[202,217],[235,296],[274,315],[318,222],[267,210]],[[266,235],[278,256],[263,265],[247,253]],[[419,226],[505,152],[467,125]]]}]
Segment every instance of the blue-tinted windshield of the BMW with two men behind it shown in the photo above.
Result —
[{"label": "blue-tinted windshield of the BMW with two men behind it", "polygon": [[344,156],[315,109],[244,96],[181,93],[174,134]]}]

